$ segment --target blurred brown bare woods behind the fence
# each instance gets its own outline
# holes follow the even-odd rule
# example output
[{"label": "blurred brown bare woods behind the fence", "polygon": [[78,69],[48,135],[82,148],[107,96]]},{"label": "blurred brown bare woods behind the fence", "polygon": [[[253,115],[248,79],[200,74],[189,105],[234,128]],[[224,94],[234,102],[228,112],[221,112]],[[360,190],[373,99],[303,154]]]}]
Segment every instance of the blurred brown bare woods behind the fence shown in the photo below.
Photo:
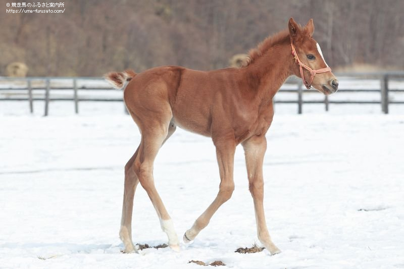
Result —
[{"label": "blurred brown bare woods behind the fence", "polygon": [[[0,0],[6,9],[10,1]],[[289,17],[315,20],[332,67],[404,68],[402,0],[71,0],[63,14],[0,17],[0,75],[23,62],[29,76],[101,76],[160,65],[227,67]]]}]

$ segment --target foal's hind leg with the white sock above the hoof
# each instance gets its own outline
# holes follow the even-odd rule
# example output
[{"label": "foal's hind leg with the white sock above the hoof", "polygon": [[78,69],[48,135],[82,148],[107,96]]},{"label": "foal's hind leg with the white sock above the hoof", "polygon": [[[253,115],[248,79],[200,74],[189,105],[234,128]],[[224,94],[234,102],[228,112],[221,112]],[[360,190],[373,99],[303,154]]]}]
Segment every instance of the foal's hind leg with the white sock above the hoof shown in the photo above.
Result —
[{"label": "foal's hind leg with the white sock above the hoof", "polygon": [[[174,129],[169,130],[169,128]],[[153,164],[156,155],[162,144],[174,130],[175,126],[172,123],[169,125],[168,123],[148,122],[147,129],[142,130],[142,141],[140,143],[139,153],[135,159],[134,167],[140,184],[147,192],[147,195],[156,209],[161,228],[167,234],[169,246],[173,250],[179,251],[178,236],[174,230],[171,217],[156,190],[153,177]]]}]

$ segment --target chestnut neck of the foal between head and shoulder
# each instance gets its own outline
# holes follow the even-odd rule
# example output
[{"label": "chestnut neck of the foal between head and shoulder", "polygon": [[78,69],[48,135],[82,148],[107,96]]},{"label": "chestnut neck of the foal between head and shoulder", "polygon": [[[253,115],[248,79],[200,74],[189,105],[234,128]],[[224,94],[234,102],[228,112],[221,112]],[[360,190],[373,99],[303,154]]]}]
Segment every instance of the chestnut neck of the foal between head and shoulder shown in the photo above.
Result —
[{"label": "chestnut neck of the foal between head and shoulder", "polygon": [[272,99],[285,80],[293,74],[293,58],[288,40],[269,48],[246,67],[247,76],[256,83],[252,88],[263,99]]}]

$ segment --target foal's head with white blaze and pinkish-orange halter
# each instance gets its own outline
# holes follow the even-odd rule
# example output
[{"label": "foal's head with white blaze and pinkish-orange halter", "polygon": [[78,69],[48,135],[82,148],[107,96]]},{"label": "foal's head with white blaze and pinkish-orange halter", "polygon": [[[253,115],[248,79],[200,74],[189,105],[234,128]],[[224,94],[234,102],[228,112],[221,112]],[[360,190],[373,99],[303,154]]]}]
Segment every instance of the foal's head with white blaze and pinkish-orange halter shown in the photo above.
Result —
[{"label": "foal's head with white blaze and pinkish-orange halter", "polygon": [[338,89],[338,80],[326,64],[320,45],[313,39],[313,19],[305,27],[289,20],[289,33],[292,54],[296,65],[294,75],[300,77],[307,88],[312,86],[328,95]]}]

